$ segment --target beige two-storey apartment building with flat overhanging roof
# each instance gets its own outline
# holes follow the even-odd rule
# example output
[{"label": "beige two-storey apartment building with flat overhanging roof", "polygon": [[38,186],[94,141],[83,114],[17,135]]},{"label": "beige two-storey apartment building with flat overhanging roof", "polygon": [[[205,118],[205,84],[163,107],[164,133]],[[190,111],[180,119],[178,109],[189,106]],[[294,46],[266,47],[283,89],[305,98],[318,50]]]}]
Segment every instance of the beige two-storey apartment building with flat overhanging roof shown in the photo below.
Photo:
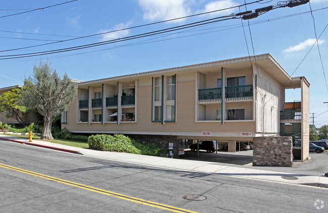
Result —
[{"label": "beige two-storey apartment building with flat overhanging roof", "polygon": [[62,128],[128,134],[165,147],[173,142],[174,153],[180,139],[216,140],[235,151],[236,141],[279,135],[285,123],[296,122],[280,117],[288,109],[285,90],[301,88],[297,136],[306,159],[309,85],[270,54],[80,82]]}]

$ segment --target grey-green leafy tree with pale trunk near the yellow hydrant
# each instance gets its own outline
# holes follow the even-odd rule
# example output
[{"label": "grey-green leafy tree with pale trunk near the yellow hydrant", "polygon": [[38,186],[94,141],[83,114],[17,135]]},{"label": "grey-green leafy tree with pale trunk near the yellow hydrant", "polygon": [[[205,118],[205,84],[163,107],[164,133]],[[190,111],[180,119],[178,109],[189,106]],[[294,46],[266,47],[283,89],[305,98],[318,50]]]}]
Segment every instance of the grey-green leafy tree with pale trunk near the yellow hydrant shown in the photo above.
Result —
[{"label": "grey-green leafy tree with pale trunk near the yellow hydrant", "polygon": [[40,139],[53,140],[51,133],[54,118],[67,111],[77,94],[77,84],[65,73],[61,78],[50,63],[34,65],[32,76],[25,78],[22,91],[24,105],[34,107],[44,118]]}]

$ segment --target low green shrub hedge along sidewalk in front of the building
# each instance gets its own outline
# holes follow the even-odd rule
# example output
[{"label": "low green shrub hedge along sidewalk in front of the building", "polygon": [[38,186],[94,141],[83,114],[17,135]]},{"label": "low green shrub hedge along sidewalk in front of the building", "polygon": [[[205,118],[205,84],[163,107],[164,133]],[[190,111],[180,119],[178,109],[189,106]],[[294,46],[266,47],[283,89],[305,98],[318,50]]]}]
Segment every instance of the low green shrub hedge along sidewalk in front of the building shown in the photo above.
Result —
[{"label": "low green shrub hedge along sidewalk in front of the building", "polygon": [[102,151],[128,152],[154,156],[167,156],[167,149],[156,144],[138,142],[124,135],[91,135],[88,138],[91,149]]}]

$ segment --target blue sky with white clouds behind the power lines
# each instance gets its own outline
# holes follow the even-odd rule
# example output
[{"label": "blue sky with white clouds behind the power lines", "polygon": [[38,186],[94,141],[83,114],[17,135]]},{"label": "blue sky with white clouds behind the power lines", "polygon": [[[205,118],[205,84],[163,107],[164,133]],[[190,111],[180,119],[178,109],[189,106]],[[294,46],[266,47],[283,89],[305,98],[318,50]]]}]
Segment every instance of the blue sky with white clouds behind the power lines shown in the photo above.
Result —
[{"label": "blue sky with white clouds behind the power lines", "polygon": [[[237,7],[216,13],[63,41],[244,4],[244,1],[239,0],[78,0],[62,4],[65,2],[69,0],[0,0],[0,59],[6,58],[2,57],[6,55],[29,54],[97,43],[237,14],[246,10],[284,4],[277,1],[261,1],[248,4],[247,9],[245,6]],[[256,1],[246,1],[246,3],[252,2]],[[61,5],[29,12],[57,4]],[[33,65],[37,65],[40,60],[49,60],[59,73],[67,72],[72,79],[88,81],[246,57],[248,56],[247,40],[250,55],[253,55],[253,48],[255,55],[269,52],[290,75],[295,72],[293,77],[305,76],[309,80],[311,84],[310,113],[316,113],[314,114],[315,125],[321,126],[328,124],[328,112],[323,113],[328,110],[328,104],[323,103],[328,101],[326,84],[328,80],[328,27],[324,30],[328,24],[327,7],[328,0],[311,0],[310,4],[268,11],[257,18],[250,19],[250,25],[247,20],[242,21],[239,18],[221,19],[222,21],[212,24],[80,50],[0,60],[0,88],[23,84],[24,77],[31,74]],[[8,16],[17,13],[23,14]],[[323,32],[318,39],[320,51],[318,46],[314,45],[301,63],[316,40],[315,32],[317,37]],[[55,43],[43,45],[51,42]],[[35,47],[23,48],[29,46]],[[16,48],[23,49],[6,51]],[[298,89],[287,92],[286,101],[299,99]],[[321,113],[323,114],[320,115]]]}]

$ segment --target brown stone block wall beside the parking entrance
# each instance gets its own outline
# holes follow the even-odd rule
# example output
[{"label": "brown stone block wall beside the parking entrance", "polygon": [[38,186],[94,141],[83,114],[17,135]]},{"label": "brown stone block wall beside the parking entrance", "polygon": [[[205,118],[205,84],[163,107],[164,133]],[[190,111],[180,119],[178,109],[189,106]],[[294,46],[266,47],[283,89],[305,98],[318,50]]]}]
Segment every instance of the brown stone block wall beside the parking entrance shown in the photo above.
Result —
[{"label": "brown stone block wall beside the parking entrance", "polygon": [[253,166],[293,167],[291,137],[257,137],[253,149]]}]

